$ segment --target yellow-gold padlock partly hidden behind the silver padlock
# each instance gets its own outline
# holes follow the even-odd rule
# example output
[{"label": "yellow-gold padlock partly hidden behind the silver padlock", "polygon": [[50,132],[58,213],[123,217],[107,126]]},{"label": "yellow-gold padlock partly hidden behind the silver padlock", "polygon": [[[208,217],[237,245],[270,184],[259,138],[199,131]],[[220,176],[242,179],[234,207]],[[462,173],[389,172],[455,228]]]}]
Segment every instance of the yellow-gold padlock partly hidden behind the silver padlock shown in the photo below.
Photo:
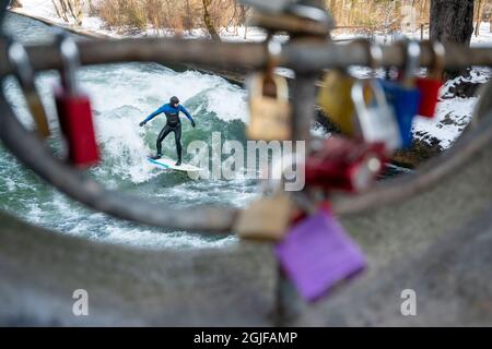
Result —
[{"label": "yellow-gold padlock partly hidden behind the silver padlock", "polygon": [[345,72],[331,70],[325,74],[317,97],[325,115],[348,136],[355,134],[355,109],[351,98],[355,81]]}]

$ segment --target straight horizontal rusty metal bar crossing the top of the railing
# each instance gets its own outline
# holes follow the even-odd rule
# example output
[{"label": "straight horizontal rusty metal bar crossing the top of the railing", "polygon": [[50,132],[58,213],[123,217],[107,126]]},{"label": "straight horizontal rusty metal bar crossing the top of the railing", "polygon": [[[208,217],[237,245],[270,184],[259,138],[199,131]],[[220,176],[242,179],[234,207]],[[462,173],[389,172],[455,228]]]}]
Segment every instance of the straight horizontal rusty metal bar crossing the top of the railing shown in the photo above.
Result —
[{"label": "straight horizontal rusty metal bar crossing the top of the railing", "polygon": [[[129,61],[160,63],[194,63],[219,68],[259,69],[266,65],[263,44],[212,43],[204,39],[130,38],[121,40],[83,40],[79,43],[82,64],[104,64]],[[0,75],[12,68],[0,45]],[[26,47],[36,71],[61,68],[55,45]],[[383,65],[402,65],[405,53],[397,45],[383,47]],[[421,65],[432,64],[432,52],[422,46]],[[280,65],[297,72],[313,73],[333,67],[367,65],[367,51],[360,44],[341,45],[331,41],[296,41],[285,44]],[[492,65],[492,48],[467,48],[446,45],[446,69],[469,65]]]}]

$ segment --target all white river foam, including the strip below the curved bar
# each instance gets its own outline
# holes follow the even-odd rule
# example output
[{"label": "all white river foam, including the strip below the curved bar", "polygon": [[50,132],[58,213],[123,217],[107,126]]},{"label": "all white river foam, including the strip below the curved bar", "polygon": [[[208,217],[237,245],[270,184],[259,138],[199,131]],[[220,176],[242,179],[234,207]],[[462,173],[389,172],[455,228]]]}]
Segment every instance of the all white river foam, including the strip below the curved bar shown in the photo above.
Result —
[{"label": "all white river foam, including the strip below the curved bar", "polygon": [[[145,159],[153,151],[153,140],[164,124],[165,117],[157,117],[160,119],[155,119],[145,128],[140,128],[138,123],[166,103],[171,96],[177,95],[180,98],[183,105],[197,119],[198,130],[202,115],[215,115],[224,121],[246,119],[246,93],[214,75],[196,71],[178,73],[152,63],[129,63],[84,68],[79,72],[79,77],[81,86],[92,100],[97,140],[103,151],[103,163],[91,173],[103,184],[116,189],[128,181],[139,184],[157,176],[163,176],[163,183],[167,183],[168,178],[165,176],[169,174],[153,169]],[[58,118],[52,99],[52,86],[58,83],[58,79],[57,73],[48,72],[42,74],[37,81],[54,130],[58,130]],[[22,122],[32,127],[32,118],[23,104],[16,83],[7,82],[5,89]],[[184,119],[184,122],[187,120]],[[57,134],[54,140],[59,140]],[[56,142],[57,147],[61,145],[61,142]],[[2,159],[8,161],[10,168],[16,166],[7,157]],[[9,170],[5,174],[9,173],[12,171]],[[162,201],[163,207],[166,203],[172,203],[174,207],[192,207],[210,203],[227,203],[241,207],[257,196],[253,190],[255,186],[243,180],[203,182],[175,179],[167,188],[160,185],[160,178],[155,181],[150,183],[153,192],[147,195],[151,196],[150,200]],[[40,189],[40,191],[28,200],[15,198],[24,207],[17,214],[33,224],[69,234],[149,249],[220,248],[236,241],[234,237],[213,240],[184,231],[162,233],[159,229],[142,228],[113,219],[86,209],[30,177],[15,179],[13,183],[12,180],[7,181],[5,189],[23,188],[24,182],[28,190]],[[141,194],[145,195],[144,190]],[[25,202],[21,203],[22,201]]]}]

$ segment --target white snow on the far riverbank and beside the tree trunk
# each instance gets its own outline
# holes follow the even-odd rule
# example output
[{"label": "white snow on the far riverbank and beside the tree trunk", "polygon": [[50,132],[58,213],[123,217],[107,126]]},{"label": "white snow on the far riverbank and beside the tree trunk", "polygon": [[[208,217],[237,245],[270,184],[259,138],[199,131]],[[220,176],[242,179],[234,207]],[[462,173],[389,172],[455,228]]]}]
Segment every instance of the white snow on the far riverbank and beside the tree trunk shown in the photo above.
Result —
[{"label": "white snow on the far riverbank and beside the tree trunk", "polygon": [[[67,25],[61,19],[57,16],[55,8],[51,1],[47,0],[22,0],[23,8],[17,9],[17,12],[25,13],[27,15],[34,15],[37,17],[43,17],[52,21],[60,25]],[[98,17],[89,16],[83,20],[82,28],[89,32],[94,32],[98,34],[108,35],[115,38],[128,36],[119,34],[114,29],[108,29],[105,27],[104,22]],[[260,28],[250,27],[247,31],[247,36],[245,38],[245,28],[239,27],[238,33],[234,33],[232,29],[221,31],[220,35],[224,41],[260,41],[265,39],[266,34]],[[132,34],[133,36],[173,36],[172,31],[161,31],[156,33],[153,28],[148,28],[138,34]],[[183,35],[185,38],[199,38],[206,37],[207,34],[202,29],[195,29],[191,33],[186,33]],[[343,33],[336,31],[333,34],[333,39],[336,40],[347,40],[360,37],[361,34]],[[420,31],[414,33],[407,33],[407,36],[420,39]],[[424,32],[424,38],[429,37],[429,32]],[[280,37],[280,39],[285,39]],[[380,44],[391,43],[391,36],[378,34],[376,39]],[[480,36],[472,37],[472,46],[492,46],[492,33],[490,32],[489,23],[481,23]],[[291,76],[292,72],[289,70],[279,70],[280,73]],[[471,76],[466,81],[472,83],[484,83],[490,79],[491,71],[489,69],[475,69]],[[460,77],[460,80],[462,80]],[[442,95],[446,95],[449,86],[454,85],[458,81],[447,82],[446,86],[443,87]],[[452,98],[442,99],[437,107],[436,117],[432,120],[424,118],[415,118],[413,124],[413,134],[417,139],[424,142],[433,143],[437,140],[441,147],[449,147],[454,141],[460,135],[464,128],[468,124],[471,119],[473,107],[477,103],[477,97],[471,98]]]}]

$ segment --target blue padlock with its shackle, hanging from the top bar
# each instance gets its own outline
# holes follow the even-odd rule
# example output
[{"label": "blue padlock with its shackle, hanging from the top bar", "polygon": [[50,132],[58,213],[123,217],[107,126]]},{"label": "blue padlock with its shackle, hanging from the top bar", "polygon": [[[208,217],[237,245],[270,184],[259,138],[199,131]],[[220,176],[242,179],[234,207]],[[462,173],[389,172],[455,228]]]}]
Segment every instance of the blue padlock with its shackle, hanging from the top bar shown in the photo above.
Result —
[{"label": "blue padlock with its shackle, hanging from the top bar", "polygon": [[412,144],[412,122],[420,107],[420,91],[415,87],[414,72],[420,65],[420,46],[417,41],[407,44],[407,62],[402,82],[382,81],[388,103],[395,111],[401,136],[401,146]]}]

